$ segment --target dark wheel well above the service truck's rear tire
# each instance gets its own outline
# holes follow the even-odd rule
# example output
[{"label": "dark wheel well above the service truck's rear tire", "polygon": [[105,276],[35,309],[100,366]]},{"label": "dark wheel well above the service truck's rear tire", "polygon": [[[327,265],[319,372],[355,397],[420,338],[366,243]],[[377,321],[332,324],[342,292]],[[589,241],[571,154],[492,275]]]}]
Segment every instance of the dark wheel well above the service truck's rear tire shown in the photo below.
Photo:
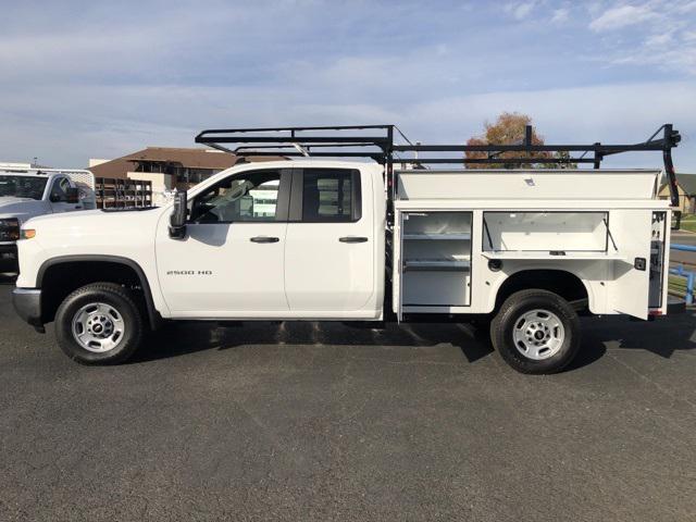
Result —
[{"label": "dark wheel well above the service truck's rear tire", "polygon": [[515,291],[538,288],[552,291],[573,303],[579,311],[587,309],[587,288],[580,277],[564,270],[523,270],[508,277],[496,296],[496,310]]}]

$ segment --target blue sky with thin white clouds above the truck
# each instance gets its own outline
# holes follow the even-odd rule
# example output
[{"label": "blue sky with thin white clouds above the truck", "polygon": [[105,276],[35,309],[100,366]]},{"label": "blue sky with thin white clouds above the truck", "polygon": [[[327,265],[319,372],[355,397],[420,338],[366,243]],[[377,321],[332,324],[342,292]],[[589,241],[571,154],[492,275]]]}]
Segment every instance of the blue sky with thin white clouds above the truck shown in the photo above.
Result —
[{"label": "blue sky with thin white clouds above the truck", "polygon": [[0,161],[84,166],[216,126],[459,142],[521,111],[547,142],[672,122],[696,172],[696,0],[0,2]]}]

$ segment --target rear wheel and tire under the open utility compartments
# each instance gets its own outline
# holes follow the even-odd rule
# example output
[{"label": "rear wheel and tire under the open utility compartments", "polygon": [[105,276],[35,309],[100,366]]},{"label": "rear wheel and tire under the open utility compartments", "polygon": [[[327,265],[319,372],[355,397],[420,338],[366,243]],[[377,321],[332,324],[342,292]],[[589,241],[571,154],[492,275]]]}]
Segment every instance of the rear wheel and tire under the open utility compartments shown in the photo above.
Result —
[{"label": "rear wheel and tire under the open utility compartments", "polygon": [[580,320],[557,294],[521,290],[500,307],[490,323],[490,340],[505,362],[518,372],[557,373],[577,353]]}]

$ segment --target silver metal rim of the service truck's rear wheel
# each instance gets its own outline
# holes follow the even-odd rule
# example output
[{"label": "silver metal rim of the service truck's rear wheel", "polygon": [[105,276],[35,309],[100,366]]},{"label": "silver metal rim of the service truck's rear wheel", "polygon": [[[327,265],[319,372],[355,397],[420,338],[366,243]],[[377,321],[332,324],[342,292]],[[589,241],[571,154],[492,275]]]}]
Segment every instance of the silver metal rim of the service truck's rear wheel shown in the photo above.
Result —
[{"label": "silver metal rim of the service truck's rear wheel", "polygon": [[530,310],[514,322],[512,341],[527,359],[542,361],[554,357],[563,346],[563,323],[548,310]]}]

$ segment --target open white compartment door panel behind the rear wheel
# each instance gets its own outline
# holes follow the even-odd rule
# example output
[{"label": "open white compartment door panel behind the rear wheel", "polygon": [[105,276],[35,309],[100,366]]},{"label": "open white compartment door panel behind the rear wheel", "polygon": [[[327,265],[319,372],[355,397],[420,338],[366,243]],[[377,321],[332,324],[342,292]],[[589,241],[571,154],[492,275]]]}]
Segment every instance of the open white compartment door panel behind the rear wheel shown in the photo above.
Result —
[{"label": "open white compartment door panel behind the rear wheel", "polygon": [[[611,213],[609,221],[619,252],[624,258],[614,261],[613,281],[609,283],[609,304],[612,310],[634,318],[647,319],[651,211],[622,210]],[[611,247],[610,247],[611,248]],[[644,260],[644,270],[635,266]],[[638,265],[641,261],[638,261]]]}]

